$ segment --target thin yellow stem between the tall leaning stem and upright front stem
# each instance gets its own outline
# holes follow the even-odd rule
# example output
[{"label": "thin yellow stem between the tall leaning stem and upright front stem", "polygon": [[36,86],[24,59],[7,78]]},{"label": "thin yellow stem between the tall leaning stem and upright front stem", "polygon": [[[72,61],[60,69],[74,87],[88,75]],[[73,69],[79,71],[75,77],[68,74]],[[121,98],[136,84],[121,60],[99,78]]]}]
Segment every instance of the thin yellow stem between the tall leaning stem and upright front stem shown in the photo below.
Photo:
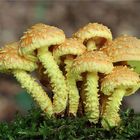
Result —
[{"label": "thin yellow stem between the tall leaning stem and upright front stem", "polygon": [[69,95],[69,114],[76,116],[80,98],[79,91],[76,85],[76,78],[70,71],[67,73],[66,77]]}]

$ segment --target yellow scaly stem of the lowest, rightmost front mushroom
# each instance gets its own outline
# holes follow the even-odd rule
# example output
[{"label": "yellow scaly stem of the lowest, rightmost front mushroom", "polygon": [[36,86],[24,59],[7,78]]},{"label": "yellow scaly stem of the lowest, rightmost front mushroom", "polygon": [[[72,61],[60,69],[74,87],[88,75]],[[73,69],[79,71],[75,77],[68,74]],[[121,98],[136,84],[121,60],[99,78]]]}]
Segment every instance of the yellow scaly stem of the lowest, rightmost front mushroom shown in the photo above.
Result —
[{"label": "yellow scaly stem of the lowest, rightmost front mushroom", "polygon": [[108,124],[111,127],[117,126],[120,122],[118,117],[118,111],[120,109],[121,101],[125,95],[125,89],[119,88],[114,91],[114,93],[109,97],[107,102],[106,110],[103,114],[102,126],[106,129],[109,128]]}]

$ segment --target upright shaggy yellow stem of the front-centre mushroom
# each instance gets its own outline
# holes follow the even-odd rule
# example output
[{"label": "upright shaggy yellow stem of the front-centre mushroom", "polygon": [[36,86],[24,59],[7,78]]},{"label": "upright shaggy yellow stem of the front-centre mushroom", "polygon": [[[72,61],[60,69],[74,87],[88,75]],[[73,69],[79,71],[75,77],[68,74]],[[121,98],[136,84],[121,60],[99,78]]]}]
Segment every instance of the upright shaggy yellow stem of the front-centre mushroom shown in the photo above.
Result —
[{"label": "upright shaggy yellow stem of the front-centre mushroom", "polygon": [[97,73],[87,73],[84,87],[84,110],[89,121],[93,123],[99,120],[98,79]]}]

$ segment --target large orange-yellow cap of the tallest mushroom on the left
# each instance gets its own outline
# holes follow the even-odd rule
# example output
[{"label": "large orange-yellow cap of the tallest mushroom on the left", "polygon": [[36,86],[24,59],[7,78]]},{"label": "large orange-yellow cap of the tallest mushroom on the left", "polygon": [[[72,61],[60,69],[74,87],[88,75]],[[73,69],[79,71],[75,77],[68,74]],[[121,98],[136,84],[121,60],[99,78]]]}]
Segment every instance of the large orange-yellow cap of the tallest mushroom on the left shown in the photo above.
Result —
[{"label": "large orange-yellow cap of the tallest mushroom on the left", "polygon": [[20,50],[23,54],[33,52],[40,47],[50,47],[65,41],[64,32],[54,26],[38,23],[24,32],[20,39]]}]

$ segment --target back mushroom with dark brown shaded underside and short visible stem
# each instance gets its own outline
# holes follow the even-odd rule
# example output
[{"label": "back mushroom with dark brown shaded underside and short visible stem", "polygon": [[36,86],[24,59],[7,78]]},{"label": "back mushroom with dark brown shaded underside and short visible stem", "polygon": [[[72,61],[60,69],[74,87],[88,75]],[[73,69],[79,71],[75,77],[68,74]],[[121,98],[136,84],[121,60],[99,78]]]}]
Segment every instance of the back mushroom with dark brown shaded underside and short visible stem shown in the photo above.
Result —
[{"label": "back mushroom with dark brown shaded underside and short visible stem", "polygon": [[99,23],[88,23],[73,35],[82,40],[87,50],[98,50],[107,40],[112,40],[112,33],[108,27]]}]

